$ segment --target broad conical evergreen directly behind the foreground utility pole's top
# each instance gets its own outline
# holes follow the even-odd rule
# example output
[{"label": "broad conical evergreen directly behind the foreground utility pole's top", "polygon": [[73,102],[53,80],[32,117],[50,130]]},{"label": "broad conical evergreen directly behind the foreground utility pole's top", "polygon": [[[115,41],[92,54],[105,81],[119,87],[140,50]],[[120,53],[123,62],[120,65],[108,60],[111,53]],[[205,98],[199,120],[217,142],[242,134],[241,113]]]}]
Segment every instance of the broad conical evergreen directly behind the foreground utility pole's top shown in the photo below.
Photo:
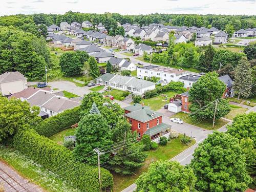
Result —
[{"label": "broad conical evergreen directly behind the foreground utility pole's top", "polygon": [[[76,158],[81,161],[91,160],[93,164],[97,164],[97,156],[91,156],[94,148],[104,147],[109,150],[109,145],[113,144],[110,126],[102,114],[88,114],[78,123],[75,131],[76,146],[73,151]],[[89,154],[88,154],[89,153]],[[86,155],[87,154],[87,155]],[[90,157],[89,157],[90,156]],[[108,161],[110,153],[101,155],[101,163]]]}]

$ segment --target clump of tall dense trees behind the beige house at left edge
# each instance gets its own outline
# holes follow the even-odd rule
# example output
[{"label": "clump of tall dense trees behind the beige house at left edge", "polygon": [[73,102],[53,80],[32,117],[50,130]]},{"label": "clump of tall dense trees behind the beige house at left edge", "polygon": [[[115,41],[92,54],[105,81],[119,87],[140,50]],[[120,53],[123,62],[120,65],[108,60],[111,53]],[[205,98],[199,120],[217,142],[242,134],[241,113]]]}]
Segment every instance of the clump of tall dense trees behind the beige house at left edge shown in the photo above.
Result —
[{"label": "clump of tall dense trees behind the beige house at left edge", "polygon": [[50,64],[50,53],[44,39],[13,27],[0,27],[0,62],[0,74],[19,71],[29,80],[40,80]]}]

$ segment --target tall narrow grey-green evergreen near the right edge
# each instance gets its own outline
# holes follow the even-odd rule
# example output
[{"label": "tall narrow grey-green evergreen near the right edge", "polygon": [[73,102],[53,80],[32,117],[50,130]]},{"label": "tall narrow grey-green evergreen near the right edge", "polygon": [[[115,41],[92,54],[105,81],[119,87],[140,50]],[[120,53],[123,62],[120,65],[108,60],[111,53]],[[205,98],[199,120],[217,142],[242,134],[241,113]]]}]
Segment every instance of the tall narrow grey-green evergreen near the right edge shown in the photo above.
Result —
[{"label": "tall narrow grey-green evergreen near the right edge", "polygon": [[246,57],[242,57],[234,70],[234,89],[240,96],[247,98],[251,94],[252,76],[250,63]]}]

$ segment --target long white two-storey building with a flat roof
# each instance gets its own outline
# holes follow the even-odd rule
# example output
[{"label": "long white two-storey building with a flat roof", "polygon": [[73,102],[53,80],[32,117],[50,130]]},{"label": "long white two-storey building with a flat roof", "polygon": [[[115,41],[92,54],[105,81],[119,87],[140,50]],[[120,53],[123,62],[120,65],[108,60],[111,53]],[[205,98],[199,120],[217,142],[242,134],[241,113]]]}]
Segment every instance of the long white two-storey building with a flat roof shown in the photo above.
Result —
[{"label": "long white two-storey building with a flat roof", "polygon": [[182,69],[173,69],[160,66],[145,66],[137,68],[137,77],[159,77],[161,81],[169,83],[170,81],[179,81],[181,76],[187,75],[188,72]]}]

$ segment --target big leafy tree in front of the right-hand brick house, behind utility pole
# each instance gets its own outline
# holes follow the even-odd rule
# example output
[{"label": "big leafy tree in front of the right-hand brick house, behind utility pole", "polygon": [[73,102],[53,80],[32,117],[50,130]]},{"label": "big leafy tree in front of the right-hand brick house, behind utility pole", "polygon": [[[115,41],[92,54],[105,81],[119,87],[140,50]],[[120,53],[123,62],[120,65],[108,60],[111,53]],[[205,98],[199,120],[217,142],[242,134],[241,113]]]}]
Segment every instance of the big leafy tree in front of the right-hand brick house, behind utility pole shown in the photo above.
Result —
[{"label": "big leafy tree in front of the right-hand brick house, behind utility pole", "polygon": [[218,79],[216,72],[208,72],[198,79],[189,90],[189,111],[195,118],[214,117],[217,102],[216,118],[219,119],[229,113],[227,100],[221,99],[226,85]]}]

